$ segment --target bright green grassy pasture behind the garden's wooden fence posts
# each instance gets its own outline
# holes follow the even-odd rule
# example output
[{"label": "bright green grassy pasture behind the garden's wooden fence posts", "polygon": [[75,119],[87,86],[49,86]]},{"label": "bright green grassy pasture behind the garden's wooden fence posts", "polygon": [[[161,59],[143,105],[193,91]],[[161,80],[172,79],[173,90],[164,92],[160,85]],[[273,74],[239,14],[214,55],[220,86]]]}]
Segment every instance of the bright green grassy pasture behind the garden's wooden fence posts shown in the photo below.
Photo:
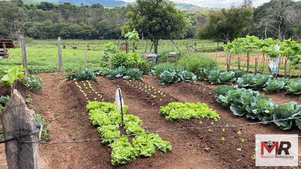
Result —
[{"label": "bright green grassy pasture behind the garden's wooden fence posts", "polygon": [[[39,72],[57,72],[58,71],[58,61],[57,61],[57,40],[33,40],[26,39],[26,55],[29,73],[35,74]],[[90,51],[88,51],[88,68],[98,68],[102,66],[104,62],[101,56],[102,53],[102,44],[113,41],[118,45],[118,40],[61,40],[61,47],[66,46],[66,49],[62,49],[63,54],[63,69],[65,72],[84,67],[84,57],[85,57],[85,44],[89,45]],[[150,51],[151,41],[143,41],[143,50],[142,41],[136,44],[137,53],[141,54],[145,51],[145,45],[147,41],[147,52]],[[122,42],[125,42],[123,40]],[[197,39],[185,39],[185,40],[175,40],[175,43],[179,46],[179,49],[185,53],[186,42],[189,44],[189,51],[192,50],[194,43],[197,43],[197,52],[201,52],[203,40]],[[14,66],[22,65],[22,52],[19,48],[17,41],[14,41],[14,44],[17,46],[16,49],[10,49],[9,60],[2,63],[3,66]],[[166,49],[165,49],[166,44]],[[78,50],[72,49],[72,46],[76,46]],[[160,51],[161,46],[161,51]],[[215,42],[210,40],[204,41],[205,50],[215,51],[216,46]],[[132,47],[129,47],[129,51],[132,51]],[[154,47],[152,52],[154,51]],[[166,54],[168,52],[177,52],[178,50],[173,46],[170,40],[160,40],[158,46],[158,52],[160,54],[160,60],[166,60]]]}]

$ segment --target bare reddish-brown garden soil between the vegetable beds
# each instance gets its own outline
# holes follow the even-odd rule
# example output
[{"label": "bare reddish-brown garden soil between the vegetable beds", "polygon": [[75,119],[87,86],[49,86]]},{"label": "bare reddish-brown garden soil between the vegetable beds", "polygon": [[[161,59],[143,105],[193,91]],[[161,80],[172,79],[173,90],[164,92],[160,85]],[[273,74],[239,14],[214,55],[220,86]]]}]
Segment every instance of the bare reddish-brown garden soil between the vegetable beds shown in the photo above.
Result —
[{"label": "bare reddish-brown garden soil between the vegetable beds", "polygon": [[[41,114],[45,120],[52,125],[49,134],[53,138],[49,142],[85,140],[99,138],[96,127],[93,127],[88,120],[88,112],[85,110],[87,100],[79,91],[75,81],[65,81],[64,75],[60,73],[38,74],[44,80],[43,91],[40,93],[21,91],[24,97],[33,98],[32,107],[37,113]],[[150,86],[150,94],[141,91],[137,81],[129,81],[123,78],[108,81],[103,77],[98,77],[98,83],[90,81],[92,88],[102,96],[95,94],[86,81],[77,81],[87,94],[88,100],[109,101],[115,100],[117,85],[122,89],[124,103],[129,105],[128,114],[139,116],[143,120],[142,128],[146,131],[162,131],[183,127],[206,127],[211,125],[211,119],[191,119],[177,120],[175,122],[166,121],[163,115],[158,114],[160,106],[166,106],[172,101],[206,103],[221,116],[221,119],[214,124],[245,124],[257,122],[246,117],[237,117],[229,109],[216,103],[214,86],[205,81],[197,81],[197,84],[180,82],[168,86],[161,86],[154,77],[144,75],[143,84]],[[129,83],[127,83],[129,82]],[[85,83],[88,89],[85,89]],[[140,83],[140,82],[138,82]],[[133,85],[133,86],[132,86]],[[138,84],[139,85],[139,84]],[[154,94],[153,88],[163,94]],[[0,88],[3,86],[0,84]],[[4,88],[0,94],[9,94],[9,88]],[[91,91],[91,93],[89,93]],[[300,96],[284,95],[283,92],[268,94],[275,103],[283,104],[296,101],[301,104]],[[166,95],[163,97],[163,95]],[[162,101],[160,101],[162,99]],[[200,125],[199,121],[203,124]],[[239,128],[227,128],[222,132],[222,128],[212,128],[208,130],[184,130],[176,132],[166,132],[159,134],[163,140],[171,142],[172,151],[156,153],[147,158],[139,157],[130,164],[113,167],[110,162],[111,148],[101,144],[100,141],[88,143],[58,144],[45,146],[40,145],[40,157],[42,168],[257,168],[251,155],[255,154],[255,134],[299,134],[299,129],[283,131],[275,124],[271,125],[252,125]],[[241,131],[241,135],[237,131]],[[221,138],[225,137],[225,141]],[[241,143],[240,138],[244,138]],[[238,152],[236,149],[241,148]],[[301,142],[299,141],[299,152]],[[0,145],[0,168],[5,168],[4,145]],[[300,161],[300,158],[299,158]],[[301,167],[301,164],[298,166]],[[298,168],[295,167],[295,168]],[[265,168],[265,167],[262,167]],[[272,168],[272,167],[270,167]],[[275,168],[275,167],[274,167]],[[290,168],[290,167],[277,167]]]}]

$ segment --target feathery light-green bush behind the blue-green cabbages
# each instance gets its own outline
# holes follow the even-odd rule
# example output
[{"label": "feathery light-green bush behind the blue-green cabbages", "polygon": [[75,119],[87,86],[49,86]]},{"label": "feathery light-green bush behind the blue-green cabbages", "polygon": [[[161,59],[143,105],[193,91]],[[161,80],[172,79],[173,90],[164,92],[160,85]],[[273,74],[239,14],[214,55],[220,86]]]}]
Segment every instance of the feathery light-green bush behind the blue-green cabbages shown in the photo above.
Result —
[{"label": "feathery light-green bush behind the blue-green cabbages", "polygon": [[183,69],[193,72],[195,75],[200,75],[199,71],[202,67],[216,66],[216,61],[203,54],[185,54],[178,61],[178,64],[183,66]]}]

